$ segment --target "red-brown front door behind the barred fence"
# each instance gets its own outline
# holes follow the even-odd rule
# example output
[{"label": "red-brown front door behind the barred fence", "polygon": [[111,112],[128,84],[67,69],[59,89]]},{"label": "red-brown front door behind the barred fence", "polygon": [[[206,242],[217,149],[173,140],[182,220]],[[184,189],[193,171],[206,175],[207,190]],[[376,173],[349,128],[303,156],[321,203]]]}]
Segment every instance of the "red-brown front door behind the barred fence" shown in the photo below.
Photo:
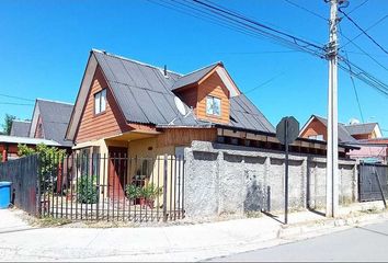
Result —
[{"label": "red-brown front door behind the barred fence", "polygon": [[123,198],[127,183],[127,148],[109,147],[109,197]]}]

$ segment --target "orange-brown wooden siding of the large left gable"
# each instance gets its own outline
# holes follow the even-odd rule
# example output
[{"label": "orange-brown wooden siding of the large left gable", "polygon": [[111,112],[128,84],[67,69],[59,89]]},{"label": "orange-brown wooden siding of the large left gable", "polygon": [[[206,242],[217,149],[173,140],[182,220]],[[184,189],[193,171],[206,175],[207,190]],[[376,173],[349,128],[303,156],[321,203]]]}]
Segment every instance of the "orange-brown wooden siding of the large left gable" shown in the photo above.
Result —
[{"label": "orange-brown wooden siding of the large left gable", "polygon": [[[94,115],[94,94],[105,88],[106,110],[101,114]],[[76,141],[82,142],[92,139],[101,139],[128,130],[129,127],[126,124],[111,90],[107,88],[107,83],[100,67],[98,67],[80,118]]]}]

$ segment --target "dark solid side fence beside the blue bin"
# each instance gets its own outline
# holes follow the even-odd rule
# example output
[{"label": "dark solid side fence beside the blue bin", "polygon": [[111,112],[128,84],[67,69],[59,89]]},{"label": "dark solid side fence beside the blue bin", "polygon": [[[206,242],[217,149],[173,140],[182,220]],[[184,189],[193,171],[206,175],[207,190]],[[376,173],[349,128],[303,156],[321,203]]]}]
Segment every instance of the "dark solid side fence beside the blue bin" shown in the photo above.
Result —
[{"label": "dark solid side fence beside the blue bin", "polygon": [[12,182],[11,203],[38,216],[38,156],[0,163],[0,181]]}]

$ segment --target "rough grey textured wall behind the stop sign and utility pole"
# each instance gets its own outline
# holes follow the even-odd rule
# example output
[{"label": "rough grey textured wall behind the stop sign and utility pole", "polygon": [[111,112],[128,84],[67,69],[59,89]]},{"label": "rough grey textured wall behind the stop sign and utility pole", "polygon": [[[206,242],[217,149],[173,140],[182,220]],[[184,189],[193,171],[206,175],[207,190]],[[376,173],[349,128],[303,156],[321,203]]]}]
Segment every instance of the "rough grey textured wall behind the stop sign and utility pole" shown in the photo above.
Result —
[{"label": "rough grey textured wall behind the stop sign and utility pole", "polygon": [[[284,208],[284,153],[193,141],[185,149],[189,217]],[[357,198],[354,160],[340,160],[340,202]],[[326,205],[326,158],[289,155],[289,208]]]}]

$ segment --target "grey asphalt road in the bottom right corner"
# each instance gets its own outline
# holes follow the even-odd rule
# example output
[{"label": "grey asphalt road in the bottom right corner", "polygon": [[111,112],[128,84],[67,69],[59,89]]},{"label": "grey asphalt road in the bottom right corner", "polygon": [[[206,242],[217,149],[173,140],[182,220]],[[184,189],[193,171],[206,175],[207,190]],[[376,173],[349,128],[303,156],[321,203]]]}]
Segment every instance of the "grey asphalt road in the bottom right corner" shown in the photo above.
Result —
[{"label": "grey asphalt road in the bottom right corner", "polygon": [[388,261],[388,221],[212,261]]}]

